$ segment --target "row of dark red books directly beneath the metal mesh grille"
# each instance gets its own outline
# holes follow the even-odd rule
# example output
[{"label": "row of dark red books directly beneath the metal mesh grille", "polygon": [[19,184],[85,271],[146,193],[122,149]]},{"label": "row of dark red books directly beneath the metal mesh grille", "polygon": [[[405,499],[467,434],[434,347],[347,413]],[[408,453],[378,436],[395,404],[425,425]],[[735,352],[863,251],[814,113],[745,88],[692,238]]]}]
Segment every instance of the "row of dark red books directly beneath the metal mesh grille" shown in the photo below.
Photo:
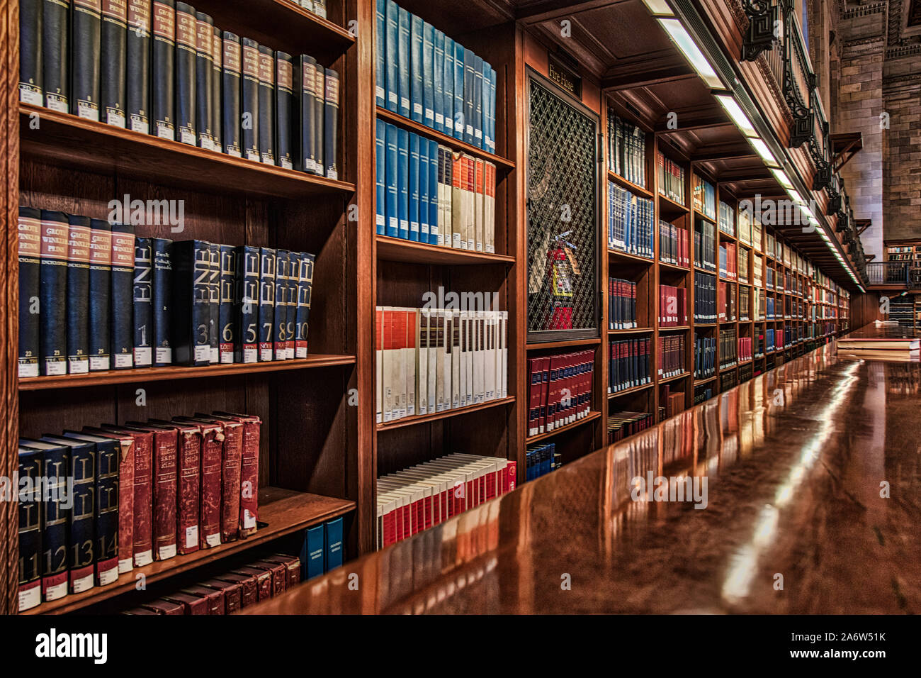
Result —
[{"label": "row of dark red books directly beneath the metal mesh grille", "polygon": [[554,431],[591,410],[595,351],[528,359],[528,435]]}]

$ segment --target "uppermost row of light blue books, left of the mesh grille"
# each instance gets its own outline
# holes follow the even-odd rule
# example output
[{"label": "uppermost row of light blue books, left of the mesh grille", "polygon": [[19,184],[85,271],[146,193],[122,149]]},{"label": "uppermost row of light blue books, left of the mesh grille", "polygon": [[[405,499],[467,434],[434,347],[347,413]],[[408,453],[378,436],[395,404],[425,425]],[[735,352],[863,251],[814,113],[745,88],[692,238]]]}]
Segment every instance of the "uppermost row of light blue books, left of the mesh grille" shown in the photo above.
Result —
[{"label": "uppermost row of light blue books, left of the mesh grille", "polygon": [[377,0],[377,104],[495,153],[495,69],[421,17]]}]

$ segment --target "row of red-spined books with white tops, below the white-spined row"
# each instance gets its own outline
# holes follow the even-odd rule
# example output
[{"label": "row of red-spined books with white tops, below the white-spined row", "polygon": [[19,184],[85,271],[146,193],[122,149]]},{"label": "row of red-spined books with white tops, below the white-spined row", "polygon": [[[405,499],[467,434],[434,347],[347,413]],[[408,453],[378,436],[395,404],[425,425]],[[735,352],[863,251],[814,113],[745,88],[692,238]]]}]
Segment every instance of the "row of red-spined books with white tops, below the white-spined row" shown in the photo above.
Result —
[{"label": "row of red-spined books with white tops, below the white-spined row", "polygon": [[515,489],[517,463],[451,454],[378,479],[378,548]]}]

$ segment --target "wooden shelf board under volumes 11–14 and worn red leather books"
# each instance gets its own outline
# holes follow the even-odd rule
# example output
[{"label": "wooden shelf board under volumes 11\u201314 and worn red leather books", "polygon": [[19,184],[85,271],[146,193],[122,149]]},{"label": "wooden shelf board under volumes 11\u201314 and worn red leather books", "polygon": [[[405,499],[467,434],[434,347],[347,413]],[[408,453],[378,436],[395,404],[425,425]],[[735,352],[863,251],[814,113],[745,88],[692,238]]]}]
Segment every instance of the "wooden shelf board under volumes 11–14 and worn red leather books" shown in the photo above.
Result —
[{"label": "wooden shelf board under volumes 11\u201314 and worn red leather books", "polygon": [[151,584],[166,577],[172,577],[213,563],[228,555],[240,553],[253,546],[272,541],[298,529],[307,529],[325,520],[344,516],[354,510],[356,503],[347,499],[322,496],[284,490],[278,487],[264,487],[259,490],[259,521],[265,527],[247,539],[229,541],[213,549],[201,549],[188,555],[177,555],[169,560],[155,561],[144,567],[135,567],[105,587],[96,587],[83,593],[72,593],[52,602],[43,602],[24,614],[62,614],[86,608],[89,605],[106,601],[122,593],[133,591],[137,585],[137,576],[144,575],[146,583]]}]

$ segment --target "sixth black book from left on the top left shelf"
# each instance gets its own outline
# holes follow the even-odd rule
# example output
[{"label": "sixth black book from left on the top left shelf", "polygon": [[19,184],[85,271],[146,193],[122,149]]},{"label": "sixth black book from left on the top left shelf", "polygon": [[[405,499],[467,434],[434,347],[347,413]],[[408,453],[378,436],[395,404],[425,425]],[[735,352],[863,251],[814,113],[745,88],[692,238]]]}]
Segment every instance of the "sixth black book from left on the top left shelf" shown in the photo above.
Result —
[{"label": "sixth black book from left on the top left shelf", "polygon": [[176,3],[153,0],[150,103],[154,136],[176,138]]}]

